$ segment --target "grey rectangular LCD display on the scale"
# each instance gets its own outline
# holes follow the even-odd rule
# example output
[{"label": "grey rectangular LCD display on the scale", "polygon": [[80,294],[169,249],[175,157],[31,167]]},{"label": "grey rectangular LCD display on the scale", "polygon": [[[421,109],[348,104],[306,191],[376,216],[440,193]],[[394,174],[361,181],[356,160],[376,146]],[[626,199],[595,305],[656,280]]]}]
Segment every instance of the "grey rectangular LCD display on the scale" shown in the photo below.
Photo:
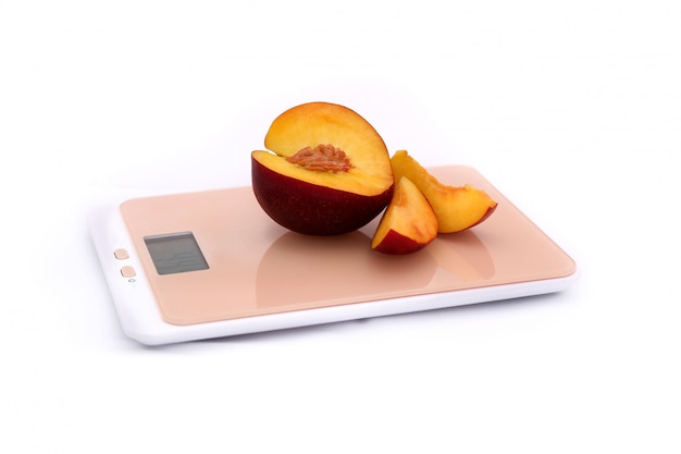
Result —
[{"label": "grey rectangular LCD display on the scale", "polygon": [[191,232],[145,236],[145,244],[161,275],[209,268]]}]

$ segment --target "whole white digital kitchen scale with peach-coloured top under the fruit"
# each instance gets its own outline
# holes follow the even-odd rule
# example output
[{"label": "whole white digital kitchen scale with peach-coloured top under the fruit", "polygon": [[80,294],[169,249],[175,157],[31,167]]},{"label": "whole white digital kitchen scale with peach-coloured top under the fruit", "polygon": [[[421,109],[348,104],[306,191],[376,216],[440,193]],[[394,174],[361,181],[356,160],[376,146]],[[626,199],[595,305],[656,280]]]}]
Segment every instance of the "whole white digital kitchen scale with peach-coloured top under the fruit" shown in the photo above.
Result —
[{"label": "whole white digital kitchen scale with peach-coloured top under the fruit", "polygon": [[102,204],[90,231],[125,333],[154,345],[507,299],[566,289],[574,261],[474,169],[429,169],[497,203],[425,248],[371,249],[380,216],[339,236],[272,221],[251,187]]}]

